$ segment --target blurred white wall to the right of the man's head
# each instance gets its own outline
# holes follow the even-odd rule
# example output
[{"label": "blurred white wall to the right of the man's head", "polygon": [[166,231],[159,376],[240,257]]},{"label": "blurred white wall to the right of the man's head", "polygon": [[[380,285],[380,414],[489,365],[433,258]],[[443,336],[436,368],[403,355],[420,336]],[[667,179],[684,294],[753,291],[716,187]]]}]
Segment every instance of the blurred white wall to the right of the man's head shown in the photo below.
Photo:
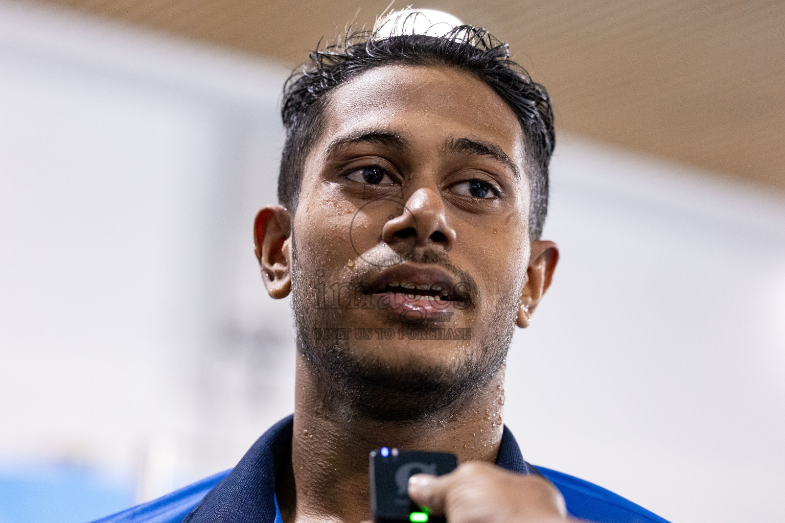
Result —
[{"label": "blurred white wall to the right of the man's head", "polygon": [[785,507],[785,205],[564,137],[556,279],[510,356],[533,463],[673,521]]}]

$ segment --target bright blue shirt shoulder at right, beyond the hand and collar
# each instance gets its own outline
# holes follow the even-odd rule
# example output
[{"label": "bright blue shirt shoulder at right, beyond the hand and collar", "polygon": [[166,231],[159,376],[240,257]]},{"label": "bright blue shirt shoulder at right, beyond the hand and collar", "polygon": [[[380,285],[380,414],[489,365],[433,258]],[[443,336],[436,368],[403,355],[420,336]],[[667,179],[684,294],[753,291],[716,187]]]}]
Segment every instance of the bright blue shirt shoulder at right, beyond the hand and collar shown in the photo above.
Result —
[{"label": "bright blue shirt shoulder at right, beyond the hand and collar", "polygon": [[668,523],[644,507],[589,481],[545,467],[536,468],[560,490],[568,512],[576,518],[599,523]]}]

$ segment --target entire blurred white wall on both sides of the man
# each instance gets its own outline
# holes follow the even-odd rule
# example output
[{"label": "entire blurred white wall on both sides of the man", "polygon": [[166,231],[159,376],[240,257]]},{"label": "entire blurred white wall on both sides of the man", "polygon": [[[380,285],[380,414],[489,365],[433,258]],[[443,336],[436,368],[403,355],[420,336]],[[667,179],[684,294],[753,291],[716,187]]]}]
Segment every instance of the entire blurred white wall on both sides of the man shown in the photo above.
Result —
[{"label": "entire blurred white wall on both sides of the man", "polygon": [[[231,467],[292,409],[250,241],[287,71],[0,3],[0,461]],[[509,358],[524,456],[673,521],[785,503],[785,201],[560,136],[562,260]]]}]

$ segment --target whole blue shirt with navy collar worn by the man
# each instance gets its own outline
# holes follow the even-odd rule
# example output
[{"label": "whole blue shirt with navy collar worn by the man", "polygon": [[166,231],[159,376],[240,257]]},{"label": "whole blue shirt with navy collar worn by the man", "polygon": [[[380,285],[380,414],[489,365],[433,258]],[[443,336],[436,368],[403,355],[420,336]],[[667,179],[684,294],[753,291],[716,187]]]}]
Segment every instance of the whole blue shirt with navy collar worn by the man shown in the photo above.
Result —
[{"label": "whole blue shirt with navy collar worn by the man", "polygon": [[[275,494],[276,470],[290,459],[292,419],[287,416],[270,427],[232,470],[95,523],[283,523]],[[526,463],[507,427],[496,464],[518,474],[545,476],[560,490],[575,518],[600,523],[668,523],[588,481]]]}]

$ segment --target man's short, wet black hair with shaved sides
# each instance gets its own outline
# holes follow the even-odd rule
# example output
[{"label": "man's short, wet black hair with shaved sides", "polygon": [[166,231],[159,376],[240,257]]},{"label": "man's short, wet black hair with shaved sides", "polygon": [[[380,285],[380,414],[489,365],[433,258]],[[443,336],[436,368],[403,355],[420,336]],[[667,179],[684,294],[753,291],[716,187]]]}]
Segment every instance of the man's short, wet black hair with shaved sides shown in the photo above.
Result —
[{"label": "man's short, wet black hair with shaved sides", "polygon": [[323,130],[330,91],[386,65],[454,67],[473,74],[505,100],[518,118],[531,187],[529,236],[540,237],[548,208],[548,165],[555,145],[553,109],[546,89],[509,58],[509,45],[481,27],[461,25],[444,36],[347,32],[339,43],[316,49],[283,87],[281,115],[286,142],[281,155],[278,199],[297,209],[305,158]]}]

